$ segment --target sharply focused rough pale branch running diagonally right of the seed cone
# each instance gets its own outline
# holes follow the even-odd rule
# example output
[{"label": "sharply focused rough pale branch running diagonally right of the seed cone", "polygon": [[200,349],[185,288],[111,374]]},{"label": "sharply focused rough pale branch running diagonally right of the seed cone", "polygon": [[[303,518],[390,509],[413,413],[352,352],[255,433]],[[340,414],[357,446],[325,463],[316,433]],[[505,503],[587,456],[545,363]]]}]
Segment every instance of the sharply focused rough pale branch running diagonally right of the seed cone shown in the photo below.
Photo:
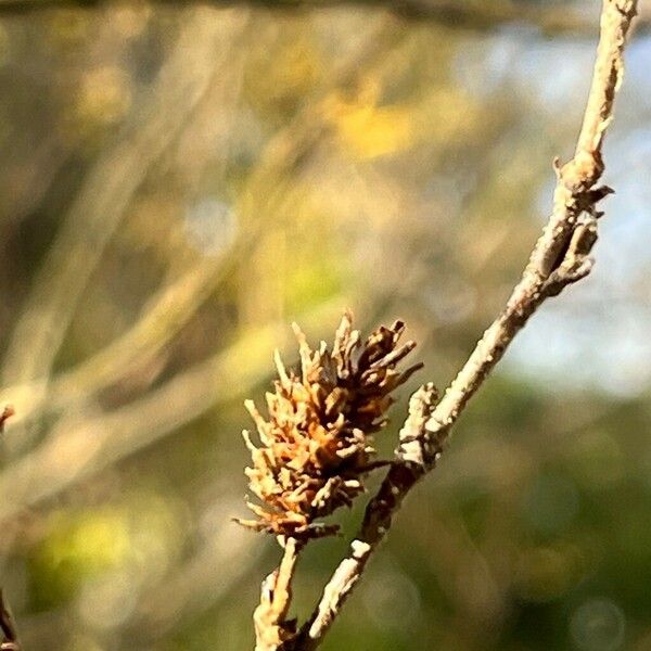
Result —
[{"label": "sharply focused rough pale branch running diagonally right of the seed cone", "polygon": [[522,279],[441,403],[434,407],[432,385],[424,385],[412,396],[409,417],[400,432],[396,462],[369,502],[348,557],[326,586],[317,609],[295,639],[293,651],[319,647],[373,550],[391,527],[404,498],[434,468],[451,426],[515,334],[546,298],[590,272],[589,253],[597,240],[597,219],[601,216],[596,206],[612,192],[597,187],[604,168],[601,145],[612,119],[613,102],[622,80],[625,38],[636,9],[637,0],[603,0],[597,61],[576,151],[564,166],[556,164],[553,212]]}]

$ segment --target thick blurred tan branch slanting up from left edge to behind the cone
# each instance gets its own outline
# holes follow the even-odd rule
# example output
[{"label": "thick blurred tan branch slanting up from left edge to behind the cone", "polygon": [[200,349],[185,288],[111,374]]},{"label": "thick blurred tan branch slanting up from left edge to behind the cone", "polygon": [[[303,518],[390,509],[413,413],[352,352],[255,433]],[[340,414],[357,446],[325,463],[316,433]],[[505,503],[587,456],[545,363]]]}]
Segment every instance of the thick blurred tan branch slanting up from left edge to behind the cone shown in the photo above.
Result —
[{"label": "thick blurred tan branch slanting up from left edge to behind the cone", "polygon": [[[303,319],[312,324],[333,320],[345,302],[337,296]],[[0,474],[0,526],[22,509],[110,468],[212,407],[239,398],[267,376],[264,360],[283,336],[289,343],[279,323],[257,328],[135,403],[60,421],[46,442]]]}]

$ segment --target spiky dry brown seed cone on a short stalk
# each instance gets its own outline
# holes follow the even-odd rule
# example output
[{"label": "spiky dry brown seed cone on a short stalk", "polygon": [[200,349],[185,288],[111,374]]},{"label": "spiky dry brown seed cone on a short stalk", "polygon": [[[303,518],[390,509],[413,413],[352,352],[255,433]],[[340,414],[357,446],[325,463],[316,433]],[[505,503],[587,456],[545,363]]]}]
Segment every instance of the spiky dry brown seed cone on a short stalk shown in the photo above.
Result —
[{"label": "spiky dry brown seed cone on a short stalk", "polygon": [[391,393],[422,367],[396,369],[416,346],[398,346],[404,330],[396,321],[361,342],[346,312],[330,352],[324,342],[311,350],[294,324],[299,374],[288,371],[277,352],[278,380],[275,393],[267,393],[268,419],[252,400],[245,403],[261,444],[257,447],[250,433],[243,433],[252,456],[245,472],[263,506],[248,502],[257,520],[238,522],[297,539],[337,531],[337,525],[317,519],[349,507],[363,492],[362,477],[382,464],[373,463],[372,434],[386,423]]}]

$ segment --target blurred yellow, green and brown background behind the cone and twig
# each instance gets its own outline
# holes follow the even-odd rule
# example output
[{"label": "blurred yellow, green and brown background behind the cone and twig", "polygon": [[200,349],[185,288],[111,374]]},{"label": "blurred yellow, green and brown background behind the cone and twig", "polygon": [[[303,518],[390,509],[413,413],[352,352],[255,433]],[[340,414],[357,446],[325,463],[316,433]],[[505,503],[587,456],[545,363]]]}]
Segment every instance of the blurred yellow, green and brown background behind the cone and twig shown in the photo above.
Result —
[{"label": "blurred yellow, green and brown background behind the cone and twig", "polygon": [[[403,318],[426,367],[391,454],[519,279],[599,4],[2,1],[0,584],[26,651],[252,648],[279,554],[230,522],[242,401],[276,346],[296,360],[292,320]],[[596,270],[519,336],[324,650],[651,649],[641,10]],[[308,547],[298,615],[345,548]]]}]

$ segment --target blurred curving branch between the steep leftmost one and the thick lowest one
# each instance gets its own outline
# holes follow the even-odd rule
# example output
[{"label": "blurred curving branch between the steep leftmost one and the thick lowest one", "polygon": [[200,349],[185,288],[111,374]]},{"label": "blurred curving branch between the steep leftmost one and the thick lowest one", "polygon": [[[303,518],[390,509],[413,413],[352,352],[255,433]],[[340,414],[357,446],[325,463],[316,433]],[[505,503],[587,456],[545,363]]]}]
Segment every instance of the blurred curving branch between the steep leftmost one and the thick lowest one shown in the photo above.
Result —
[{"label": "blurred curving branch between the steep leftmost one and the thick lowest one", "polygon": [[[202,257],[183,276],[158,290],[141,317],[118,340],[73,369],[51,380],[38,378],[5,387],[0,399],[11,397],[17,406],[18,416],[14,422],[92,403],[99,392],[149,362],[228,277],[232,267],[250,255],[260,229],[267,227],[267,217],[278,216],[278,202],[285,197],[286,177],[296,174],[296,168],[327,132],[321,105],[329,93],[368,73],[376,59],[399,38],[401,35],[395,29],[395,21],[378,21],[331,69],[311,101],[307,101],[292,122],[269,140],[241,192],[243,199],[238,212],[246,222],[245,230],[240,230],[229,252]],[[210,100],[210,95],[208,93],[206,99]],[[214,99],[209,103],[218,104]],[[270,189],[273,189],[272,195]]]}]

